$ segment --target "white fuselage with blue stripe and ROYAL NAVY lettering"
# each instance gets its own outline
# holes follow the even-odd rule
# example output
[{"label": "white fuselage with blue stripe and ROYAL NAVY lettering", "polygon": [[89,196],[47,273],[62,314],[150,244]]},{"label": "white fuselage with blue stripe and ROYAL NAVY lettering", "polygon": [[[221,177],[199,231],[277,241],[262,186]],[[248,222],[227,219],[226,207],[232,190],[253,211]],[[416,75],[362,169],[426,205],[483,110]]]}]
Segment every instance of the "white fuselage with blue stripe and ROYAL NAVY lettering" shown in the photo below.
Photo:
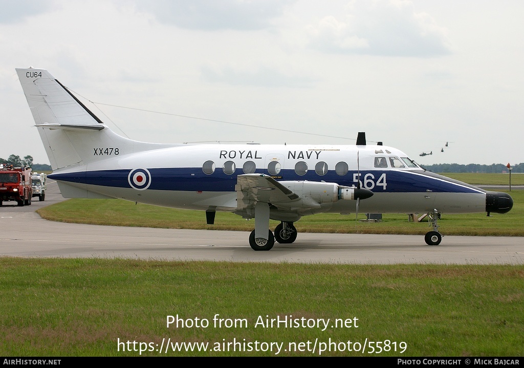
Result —
[{"label": "white fuselage with blue stripe and ROYAL NAVY lettering", "polygon": [[[49,177],[108,197],[188,209],[213,206],[217,211],[233,211],[237,175],[247,173],[270,175],[277,181],[360,186],[374,193],[360,204],[364,212],[474,213],[486,208],[486,191],[425,171],[388,146],[208,144],[116,152]],[[355,202],[296,211],[300,215],[351,213]]]}]

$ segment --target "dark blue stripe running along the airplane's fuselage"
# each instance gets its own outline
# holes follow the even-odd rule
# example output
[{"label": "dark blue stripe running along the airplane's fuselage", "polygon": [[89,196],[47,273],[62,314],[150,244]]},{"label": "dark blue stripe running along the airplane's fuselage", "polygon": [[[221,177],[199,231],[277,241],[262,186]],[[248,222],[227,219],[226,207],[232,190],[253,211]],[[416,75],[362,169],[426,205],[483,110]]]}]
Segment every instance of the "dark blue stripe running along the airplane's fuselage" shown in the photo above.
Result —
[{"label": "dark blue stripe running along the airplane's fuselage", "polygon": [[[148,171],[151,173],[151,183],[148,190],[159,191],[233,192],[235,191],[236,176],[243,174],[242,169],[236,169],[233,175],[224,174],[222,169],[217,169],[213,174],[206,175],[202,172],[201,167],[172,167],[148,169]],[[131,170],[129,169],[100,170],[64,174],[57,173],[50,174],[48,177],[64,182],[131,188],[132,186],[128,182],[130,172]],[[267,170],[258,169],[256,172],[269,175]],[[274,177],[277,181],[325,181],[344,186],[356,186],[356,182],[353,182],[353,177],[356,173],[357,171],[349,171],[346,175],[339,176],[335,171],[328,171],[326,175],[319,176],[313,170],[310,170],[301,176],[297,175],[294,170],[281,170],[280,173]],[[383,174],[386,175],[385,188],[383,185],[377,185],[379,178]],[[434,176],[434,174],[424,175],[423,171],[416,173],[406,170],[362,171],[361,181],[364,182],[363,187],[370,188],[375,193],[422,193],[428,190],[436,193],[482,193],[478,188],[468,184],[461,185],[452,183]],[[367,180],[365,180],[366,178]],[[382,183],[384,183],[384,181]]]}]

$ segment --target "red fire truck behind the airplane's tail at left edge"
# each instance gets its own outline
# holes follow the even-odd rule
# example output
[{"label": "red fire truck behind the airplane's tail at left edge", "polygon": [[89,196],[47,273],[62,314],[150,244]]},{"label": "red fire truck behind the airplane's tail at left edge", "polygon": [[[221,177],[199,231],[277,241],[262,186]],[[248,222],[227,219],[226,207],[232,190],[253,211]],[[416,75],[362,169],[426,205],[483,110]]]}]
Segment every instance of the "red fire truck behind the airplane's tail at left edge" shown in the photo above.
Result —
[{"label": "red fire truck behind the airplane's tail at left edge", "polygon": [[31,168],[0,164],[0,206],[4,201],[30,205],[31,197]]}]

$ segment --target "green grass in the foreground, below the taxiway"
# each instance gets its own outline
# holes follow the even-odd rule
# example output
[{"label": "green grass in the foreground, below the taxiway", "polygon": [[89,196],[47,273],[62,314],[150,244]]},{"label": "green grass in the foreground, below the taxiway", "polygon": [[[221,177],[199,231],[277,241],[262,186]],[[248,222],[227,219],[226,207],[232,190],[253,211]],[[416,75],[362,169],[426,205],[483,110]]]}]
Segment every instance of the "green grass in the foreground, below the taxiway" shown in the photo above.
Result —
[{"label": "green grass in the foreground, below the taxiway", "polygon": [[[521,266],[299,265],[0,258],[0,355],[275,355],[274,351],[156,351],[171,342],[275,342],[278,355],[522,356]],[[208,327],[167,328],[167,316]],[[215,327],[213,317],[224,319]],[[267,327],[266,319],[328,328]],[[356,318],[356,320],[355,320]],[[226,326],[237,320],[237,327]],[[346,327],[334,327],[334,320]],[[348,324],[347,321],[351,321]],[[245,321],[243,324],[241,321]],[[257,321],[264,321],[264,325]],[[184,322],[185,323],[185,322]],[[232,322],[231,322],[232,323]],[[308,322],[309,323],[309,322]],[[123,351],[121,342],[142,342]],[[316,340],[318,339],[318,340]],[[375,351],[348,351],[365,340]],[[316,350],[311,351],[317,341]],[[386,342],[389,341],[389,342]],[[305,351],[289,350],[304,343]],[[153,345],[149,345],[152,343]],[[216,343],[219,343],[218,345]],[[356,344],[358,343],[358,344]],[[158,346],[156,345],[158,344]],[[151,348],[152,346],[152,348]],[[247,345],[246,345],[247,346]],[[259,345],[263,348],[264,345]],[[252,346],[255,349],[255,345]],[[130,348],[133,350],[133,346]]]}]

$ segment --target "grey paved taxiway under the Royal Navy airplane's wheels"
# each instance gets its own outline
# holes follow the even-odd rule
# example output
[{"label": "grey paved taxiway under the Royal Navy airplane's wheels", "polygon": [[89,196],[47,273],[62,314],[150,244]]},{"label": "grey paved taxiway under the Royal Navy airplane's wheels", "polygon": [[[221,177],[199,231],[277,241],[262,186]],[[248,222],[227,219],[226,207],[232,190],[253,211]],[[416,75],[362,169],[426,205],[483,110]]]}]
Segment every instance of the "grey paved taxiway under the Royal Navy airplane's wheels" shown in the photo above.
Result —
[{"label": "grey paved taxiway under the Royal Navy airplane's wheels", "polygon": [[[46,201],[0,207],[0,256],[98,257],[328,264],[524,264],[522,237],[444,236],[427,246],[420,235],[300,233],[270,251],[249,247],[247,232],[65,224],[35,210],[63,200],[55,182]],[[441,228],[445,235],[445,229]]]}]

